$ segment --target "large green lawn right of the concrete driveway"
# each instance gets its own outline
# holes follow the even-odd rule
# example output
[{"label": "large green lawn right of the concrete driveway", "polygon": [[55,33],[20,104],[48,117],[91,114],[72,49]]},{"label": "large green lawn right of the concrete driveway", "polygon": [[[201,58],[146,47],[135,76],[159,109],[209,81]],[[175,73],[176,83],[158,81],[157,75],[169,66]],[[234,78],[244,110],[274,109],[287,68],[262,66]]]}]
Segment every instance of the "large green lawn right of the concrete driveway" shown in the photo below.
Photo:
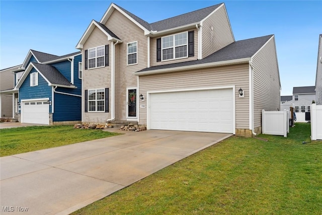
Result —
[{"label": "large green lawn right of the concrete driveway", "polygon": [[322,142],[309,136],[309,123],[233,136],[73,214],[322,214]]}]

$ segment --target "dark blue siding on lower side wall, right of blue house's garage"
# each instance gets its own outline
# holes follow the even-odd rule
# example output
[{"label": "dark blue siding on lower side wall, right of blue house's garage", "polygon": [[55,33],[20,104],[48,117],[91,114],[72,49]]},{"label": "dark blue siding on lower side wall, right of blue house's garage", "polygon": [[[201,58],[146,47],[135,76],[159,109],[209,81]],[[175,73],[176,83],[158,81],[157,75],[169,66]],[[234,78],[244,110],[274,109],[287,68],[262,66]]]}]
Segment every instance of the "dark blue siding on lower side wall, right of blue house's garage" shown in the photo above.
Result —
[{"label": "dark blue siding on lower side wall, right of blue house's garage", "polygon": [[81,121],[82,98],[63,94],[54,94],[53,121]]}]

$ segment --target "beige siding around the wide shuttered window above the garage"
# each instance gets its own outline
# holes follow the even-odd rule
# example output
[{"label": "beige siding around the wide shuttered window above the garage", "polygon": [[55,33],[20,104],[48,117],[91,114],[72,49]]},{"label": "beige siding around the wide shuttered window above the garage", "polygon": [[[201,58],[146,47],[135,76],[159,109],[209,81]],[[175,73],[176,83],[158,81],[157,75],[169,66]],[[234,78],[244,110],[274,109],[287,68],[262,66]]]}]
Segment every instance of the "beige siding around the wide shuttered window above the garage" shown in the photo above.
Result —
[{"label": "beige siding around the wide shuttered window above the garage", "polygon": [[[177,62],[183,62],[183,61],[189,61],[189,60],[196,60],[196,59],[198,59],[198,30],[196,28],[192,28],[192,29],[189,29],[187,31],[194,31],[194,50],[195,50],[195,56],[193,56],[193,57],[187,57],[187,58],[182,58],[182,59],[175,59],[175,60],[167,60],[167,61],[159,61],[159,62],[156,62],[156,39],[157,38],[160,38],[160,37],[154,37],[154,38],[151,38],[151,43],[150,43],[150,50],[151,50],[151,54],[150,54],[150,60],[151,60],[150,66],[164,65],[164,64],[177,63]],[[181,31],[181,32],[177,32],[177,33],[182,33],[182,32],[186,32],[186,31]],[[167,34],[167,35],[164,35],[162,37],[169,36],[169,35],[173,35],[173,34],[174,33]]]}]

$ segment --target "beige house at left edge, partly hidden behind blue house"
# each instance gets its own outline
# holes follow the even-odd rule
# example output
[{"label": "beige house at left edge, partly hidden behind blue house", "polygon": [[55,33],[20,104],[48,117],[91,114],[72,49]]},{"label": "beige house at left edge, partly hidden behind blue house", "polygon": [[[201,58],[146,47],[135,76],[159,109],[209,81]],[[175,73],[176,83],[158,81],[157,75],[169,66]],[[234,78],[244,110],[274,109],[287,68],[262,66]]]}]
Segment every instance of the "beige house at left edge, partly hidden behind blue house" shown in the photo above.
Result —
[{"label": "beige house at left edge, partly hidden behind blue house", "polygon": [[[12,89],[15,87],[15,74],[13,71],[21,65],[0,70],[0,117],[14,118],[14,98]],[[17,108],[17,107],[16,107]]]}]

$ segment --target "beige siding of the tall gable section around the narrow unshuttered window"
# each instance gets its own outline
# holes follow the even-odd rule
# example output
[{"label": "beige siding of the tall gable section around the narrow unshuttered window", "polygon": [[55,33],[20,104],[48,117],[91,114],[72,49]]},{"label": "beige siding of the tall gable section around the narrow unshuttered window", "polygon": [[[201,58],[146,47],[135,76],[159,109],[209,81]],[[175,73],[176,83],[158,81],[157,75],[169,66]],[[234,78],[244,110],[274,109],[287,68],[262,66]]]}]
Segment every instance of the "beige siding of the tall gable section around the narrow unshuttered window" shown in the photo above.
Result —
[{"label": "beige siding of the tall gable section around the narrow unshuttered window", "polygon": [[[123,43],[117,44],[115,73],[115,119],[126,120],[126,88],[137,87],[137,77],[134,72],[146,68],[147,66],[147,37],[144,31],[127,19],[119,11],[114,10],[105,23]],[[127,43],[137,41],[137,64],[127,65]]]}]

